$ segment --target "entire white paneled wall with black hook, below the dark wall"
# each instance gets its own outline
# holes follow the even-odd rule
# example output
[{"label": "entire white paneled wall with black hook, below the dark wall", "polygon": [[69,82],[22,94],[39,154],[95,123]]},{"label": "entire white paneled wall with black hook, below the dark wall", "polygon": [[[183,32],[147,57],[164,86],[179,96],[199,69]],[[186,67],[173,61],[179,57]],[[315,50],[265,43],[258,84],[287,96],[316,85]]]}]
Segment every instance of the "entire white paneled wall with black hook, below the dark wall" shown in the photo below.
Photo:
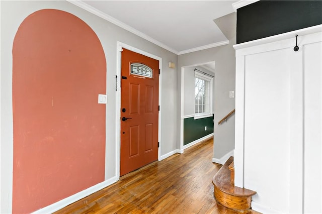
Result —
[{"label": "entire white paneled wall with black hook, below the dark wall", "polygon": [[322,211],[321,30],[234,46],[235,185],[257,191],[255,210]]}]

